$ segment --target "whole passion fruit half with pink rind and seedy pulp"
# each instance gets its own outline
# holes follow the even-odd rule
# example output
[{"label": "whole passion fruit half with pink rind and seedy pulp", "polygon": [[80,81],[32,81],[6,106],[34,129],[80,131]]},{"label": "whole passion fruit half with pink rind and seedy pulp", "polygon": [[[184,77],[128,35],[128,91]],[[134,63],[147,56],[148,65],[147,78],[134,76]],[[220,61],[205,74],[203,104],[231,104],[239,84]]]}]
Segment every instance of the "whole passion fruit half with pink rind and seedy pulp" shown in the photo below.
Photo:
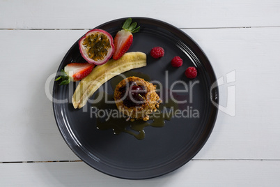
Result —
[{"label": "whole passion fruit half with pink rind and seedy pulp", "polygon": [[114,40],[107,31],[93,29],[79,40],[81,56],[95,65],[106,63],[114,54]]}]

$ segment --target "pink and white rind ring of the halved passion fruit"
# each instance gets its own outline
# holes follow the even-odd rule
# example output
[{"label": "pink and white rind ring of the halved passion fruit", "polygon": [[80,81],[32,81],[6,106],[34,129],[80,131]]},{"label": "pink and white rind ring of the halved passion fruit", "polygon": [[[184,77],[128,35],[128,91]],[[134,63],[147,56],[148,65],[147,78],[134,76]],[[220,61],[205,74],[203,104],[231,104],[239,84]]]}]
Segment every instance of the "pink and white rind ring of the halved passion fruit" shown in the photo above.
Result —
[{"label": "pink and white rind ring of the halved passion fruit", "polygon": [[[107,54],[105,54],[104,57],[102,57],[103,54],[100,54],[100,59],[96,60],[96,58],[92,59],[91,57],[88,56],[88,49],[84,45],[84,40],[86,40],[86,38],[88,38],[88,36],[97,35],[98,33],[100,33],[101,35],[104,34],[104,36],[107,36],[110,47],[105,49],[105,50],[107,50]],[[100,51],[100,49],[96,49],[96,50],[98,52]],[[101,50],[102,50],[102,48],[101,48]],[[107,61],[109,61],[109,59],[111,59],[111,57],[114,54],[114,50],[115,50],[115,46],[114,46],[113,37],[111,36],[110,33],[108,33],[107,31],[104,31],[102,29],[92,29],[91,31],[88,31],[83,37],[81,37],[79,39],[79,52],[81,53],[81,56],[86,61],[88,61],[88,63],[94,63],[95,65],[102,65],[102,64],[106,63]],[[102,52],[100,52],[100,53],[102,53]]]}]

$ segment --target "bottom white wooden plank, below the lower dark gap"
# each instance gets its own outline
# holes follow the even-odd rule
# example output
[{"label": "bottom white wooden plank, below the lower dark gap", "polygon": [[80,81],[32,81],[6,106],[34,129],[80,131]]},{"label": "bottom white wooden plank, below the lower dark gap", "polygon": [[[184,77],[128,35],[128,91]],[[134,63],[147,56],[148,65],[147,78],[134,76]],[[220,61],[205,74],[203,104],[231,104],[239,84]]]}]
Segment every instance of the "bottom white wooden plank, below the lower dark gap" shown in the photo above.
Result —
[{"label": "bottom white wooden plank, below the lower dark gap", "polygon": [[162,177],[126,180],[85,163],[0,164],[1,186],[279,186],[279,160],[192,160]]}]

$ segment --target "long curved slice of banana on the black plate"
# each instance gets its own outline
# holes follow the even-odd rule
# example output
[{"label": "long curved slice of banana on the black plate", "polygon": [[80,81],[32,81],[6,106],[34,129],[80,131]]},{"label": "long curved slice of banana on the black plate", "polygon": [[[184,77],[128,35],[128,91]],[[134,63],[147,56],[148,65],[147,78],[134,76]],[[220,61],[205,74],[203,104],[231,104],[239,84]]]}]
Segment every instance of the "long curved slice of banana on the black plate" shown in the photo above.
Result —
[{"label": "long curved slice of banana on the black plate", "polygon": [[72,96],[74,108],[84,107],[88,98],[90,98],[104,82],[107,82],[112,77],[127,70],[141,68],[146,65],[145,53],[127,52],[118,60],[111,59],[103,65],[96,66],[88,76],[79,82]]}]

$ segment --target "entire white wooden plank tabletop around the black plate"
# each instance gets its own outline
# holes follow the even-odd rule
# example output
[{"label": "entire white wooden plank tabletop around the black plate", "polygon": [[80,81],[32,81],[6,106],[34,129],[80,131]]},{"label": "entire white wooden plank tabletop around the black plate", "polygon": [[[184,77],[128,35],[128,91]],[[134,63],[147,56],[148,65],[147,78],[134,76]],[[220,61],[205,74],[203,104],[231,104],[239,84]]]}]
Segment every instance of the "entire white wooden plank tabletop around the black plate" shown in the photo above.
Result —
[{"label": "entire white wooden plank tabletop around the black plate", "polygon": [[[220,111],[199,154],[154,179],[117,179],[83,163],[61,137],[45,93],[72,44],[120,17],[182,29],[225,78],[221,105],[228,86],[236,89],[233,117]],[[280,186],[279,18],[277,0],[0,0],[0,186]]]}]

